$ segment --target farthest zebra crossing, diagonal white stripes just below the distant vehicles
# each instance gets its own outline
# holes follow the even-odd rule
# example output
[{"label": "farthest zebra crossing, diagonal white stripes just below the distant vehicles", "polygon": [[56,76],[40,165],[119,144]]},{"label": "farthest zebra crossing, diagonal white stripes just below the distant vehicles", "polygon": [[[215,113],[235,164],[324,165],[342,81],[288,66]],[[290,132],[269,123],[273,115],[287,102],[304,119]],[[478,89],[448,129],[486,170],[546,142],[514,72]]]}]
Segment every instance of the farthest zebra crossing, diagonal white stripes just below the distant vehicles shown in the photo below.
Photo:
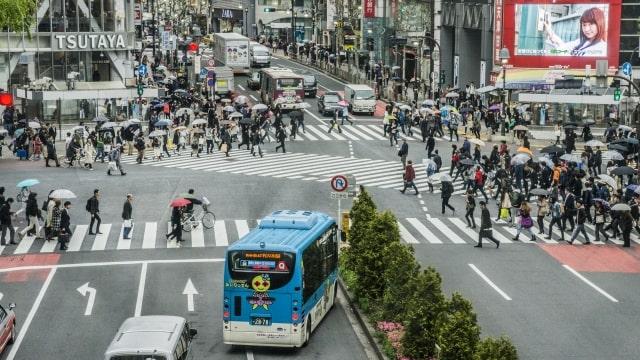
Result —
[{"label": "farthest zebra crossing, diagonal white stripes just below the distant vehicles", "polygon": [[[341,133],[337,129],[329,132],[329,126],[324,124],[305,124],[304,132],[302,128],[298,129],[298,134],[293,141],[346,141],[346,140],[386,140],[388,137],[383,136],[382,126],[374,124],[357,124],[340,126]],[[399,139],[422,141],[422,133],[419,127],[412,127],[413,135],[398,133]],[[275,129],[269,129],[269,136],[275,138]],[[434,137],[436,141],[449,141],[445,137]]]}]

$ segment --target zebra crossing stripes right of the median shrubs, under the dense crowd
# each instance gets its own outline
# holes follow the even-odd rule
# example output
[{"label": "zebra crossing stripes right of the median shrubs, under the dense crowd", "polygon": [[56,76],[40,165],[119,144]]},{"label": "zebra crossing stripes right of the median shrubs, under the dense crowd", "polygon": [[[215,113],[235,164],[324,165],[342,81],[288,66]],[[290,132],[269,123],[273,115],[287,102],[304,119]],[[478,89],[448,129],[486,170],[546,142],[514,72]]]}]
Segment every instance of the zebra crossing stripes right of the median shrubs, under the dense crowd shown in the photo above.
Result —
[{"label": "zebra crossing stripes right of the median shrubs, under the dense crowd", "polygon": [[[398,221],[398,229],[402,240],[411,245],[475,245],[478,243],[478,232],[480,230],[480,218],[476,217],[475,229],[467,227],[467,223],[463,218],[448,217],[448,218],[405,218]],[[557,227],[552,230],[551,239],[546,238],[546,234],[549,232],[549,221],[545,219],[544,234],[539,234],[537,224],[531,228],[535,239],[531,239],[528,233],[521,233],[518,240],[513,240],[517,234],[515,227],[509,226],[503,220],[496,221],[493,219],[493,237],[500,241],[502,244],[563,244],[562,235]],[[535,221],[535,219],[534,219]],[[589,240],[594,245],[604,245],[603,237],[600,237],[599,242],[595,240],[595,226],[591,224],[585,224],[585,229],[589,235]],[[571,239],[571,234],[565,232],[565,240]],[[485,239],[483,242],[486,242]],[[573,245],[583,245],[584,238],[579,235]],[[631,234],[631,241],[640,245],[640,237],[636,233]],[[622,245],[621,238],[613,239],[609,238],[609,242],[606,244]]]}]

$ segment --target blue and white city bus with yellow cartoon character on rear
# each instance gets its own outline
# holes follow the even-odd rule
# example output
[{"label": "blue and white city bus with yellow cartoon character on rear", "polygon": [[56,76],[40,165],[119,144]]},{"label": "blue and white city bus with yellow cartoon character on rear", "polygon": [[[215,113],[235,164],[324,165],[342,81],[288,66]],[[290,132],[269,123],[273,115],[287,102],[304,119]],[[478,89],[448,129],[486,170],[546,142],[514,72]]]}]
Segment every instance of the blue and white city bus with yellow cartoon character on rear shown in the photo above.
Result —
[{"label": "blue and white city bus with yellow cartoon character on rear", "polygon": [[280,210],[227,249],[223,340],[302,347],[337,293],[337,225],[314,211]]}]

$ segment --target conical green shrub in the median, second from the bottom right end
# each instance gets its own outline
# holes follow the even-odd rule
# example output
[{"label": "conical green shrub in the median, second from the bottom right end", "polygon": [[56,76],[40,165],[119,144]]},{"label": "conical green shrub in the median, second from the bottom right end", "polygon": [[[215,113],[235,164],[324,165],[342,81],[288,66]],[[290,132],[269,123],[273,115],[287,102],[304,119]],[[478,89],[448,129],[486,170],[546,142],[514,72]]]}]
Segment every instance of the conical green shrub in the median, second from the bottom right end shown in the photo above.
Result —
[{"label": "conical green shrub in the median, second from the bottom right end", "polygon": [[480,327],[471,303],[454,293],[440,326],[440,359],[473,360],[479,341]]}]

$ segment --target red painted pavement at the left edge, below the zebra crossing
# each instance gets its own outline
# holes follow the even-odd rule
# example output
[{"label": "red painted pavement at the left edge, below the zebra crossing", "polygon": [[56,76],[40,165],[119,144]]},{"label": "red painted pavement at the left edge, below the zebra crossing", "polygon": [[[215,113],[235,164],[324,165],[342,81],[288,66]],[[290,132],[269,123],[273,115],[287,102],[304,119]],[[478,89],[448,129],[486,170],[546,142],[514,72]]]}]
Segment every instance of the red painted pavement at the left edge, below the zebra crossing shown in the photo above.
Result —
[{"label": "red painted pavement at the left edge, below the zebra crossing", "polygon": [[[24,266],[55,265],[60,261],[60,254],[26,254],[0,257],[0,269],[18,268]],[[29,280],[44,281],[49,274],[44,270],[19,270],[4,273],[0,282],[25,282]]]}]

